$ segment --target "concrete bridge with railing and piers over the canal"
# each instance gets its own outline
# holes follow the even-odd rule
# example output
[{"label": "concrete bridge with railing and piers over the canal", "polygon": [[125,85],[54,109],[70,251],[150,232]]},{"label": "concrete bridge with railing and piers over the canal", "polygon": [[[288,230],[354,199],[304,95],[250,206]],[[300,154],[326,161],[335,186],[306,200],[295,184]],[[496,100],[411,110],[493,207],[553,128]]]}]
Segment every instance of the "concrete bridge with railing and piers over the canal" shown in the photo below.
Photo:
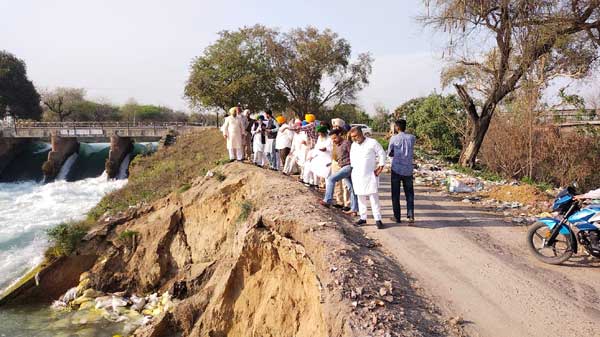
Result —
[{"label": "concrete bridge with railing and piers over the canal", "polygon": [[65,160],[79,151],[79,143],[110,142],[106,173],[116,177],[121,162],[133,150],[135,141],[158,141],[172,133],[198,128],[180,122],[62,122],[28,121],[0,122],[0,173],[32,140],[49,141],[52,145],[48,160],[42,166],[46,179],[52,180]]}]

